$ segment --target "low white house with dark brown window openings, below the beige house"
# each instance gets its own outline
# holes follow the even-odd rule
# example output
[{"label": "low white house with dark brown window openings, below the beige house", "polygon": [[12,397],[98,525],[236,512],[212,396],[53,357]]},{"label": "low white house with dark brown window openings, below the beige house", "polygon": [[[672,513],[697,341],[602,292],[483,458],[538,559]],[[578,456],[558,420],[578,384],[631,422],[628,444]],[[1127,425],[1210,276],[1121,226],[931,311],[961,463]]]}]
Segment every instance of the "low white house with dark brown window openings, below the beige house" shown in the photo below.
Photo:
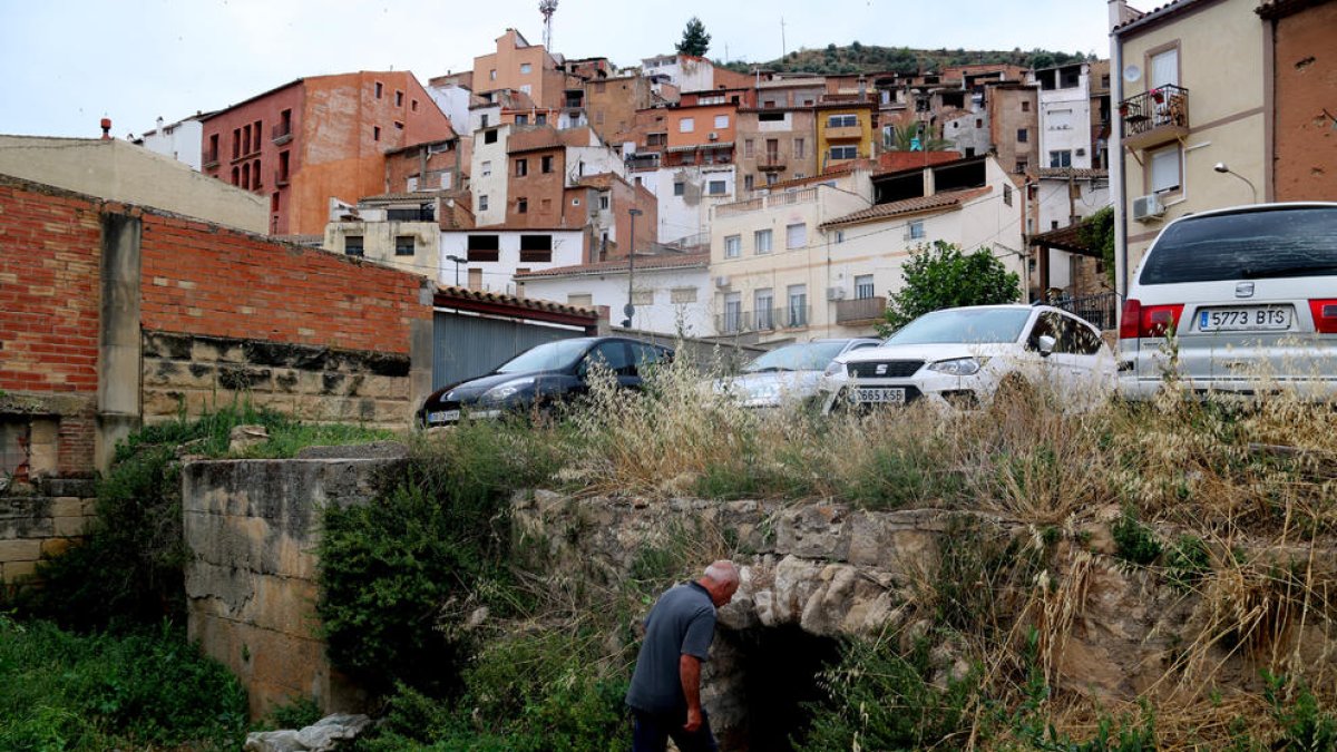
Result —
[{"label": "low white house with dark brown window openings, below the beige house", "polygon": [[516,286],[516,273],[578,265],[584,260],[584,241],[583,230],[571,229],[441,230],[437,282],[528,296],[528,290]]}]

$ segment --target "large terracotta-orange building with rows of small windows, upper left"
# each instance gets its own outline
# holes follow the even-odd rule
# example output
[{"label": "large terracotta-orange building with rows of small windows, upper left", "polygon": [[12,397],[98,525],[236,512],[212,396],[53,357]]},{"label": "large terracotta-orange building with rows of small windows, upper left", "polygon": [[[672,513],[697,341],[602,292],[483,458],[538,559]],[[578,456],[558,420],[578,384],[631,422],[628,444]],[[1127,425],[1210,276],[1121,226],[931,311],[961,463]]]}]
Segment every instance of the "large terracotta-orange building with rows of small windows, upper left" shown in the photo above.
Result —
[{"label": "large terracotta-orange building with rows of small windows, upper left", "polygon": [[385,153],[453,138],[405,71],[297,79],[203,118],[206,175],[269,199],[269,231],[318,236],[329,199],[384,193]]}]

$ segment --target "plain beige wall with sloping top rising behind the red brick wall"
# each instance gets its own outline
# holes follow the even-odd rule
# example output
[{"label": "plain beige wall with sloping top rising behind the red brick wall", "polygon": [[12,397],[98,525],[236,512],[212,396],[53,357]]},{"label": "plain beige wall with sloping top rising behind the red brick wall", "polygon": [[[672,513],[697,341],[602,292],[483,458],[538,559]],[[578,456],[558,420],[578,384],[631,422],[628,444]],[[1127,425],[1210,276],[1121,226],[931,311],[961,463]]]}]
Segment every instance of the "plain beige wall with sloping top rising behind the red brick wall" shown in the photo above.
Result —
[{"label": "plain beige wall with sloping top rising behind the red brick wall", "polygon": [[124,140],[0,135],[0,174],[251,233],[269,231],[265,197]]}]

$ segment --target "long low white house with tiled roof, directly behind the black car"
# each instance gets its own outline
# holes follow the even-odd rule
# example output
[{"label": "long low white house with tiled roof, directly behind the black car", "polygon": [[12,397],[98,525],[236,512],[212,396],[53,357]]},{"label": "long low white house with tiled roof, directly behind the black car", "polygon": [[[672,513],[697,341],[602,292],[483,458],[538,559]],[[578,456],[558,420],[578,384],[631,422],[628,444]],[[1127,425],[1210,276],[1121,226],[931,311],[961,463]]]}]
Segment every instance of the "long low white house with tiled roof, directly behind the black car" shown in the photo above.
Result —
[{"label": "long low white house with tiled roof, directly behind the black car", "polygon": [[[635,261],[632,329],[686,337],[714,332],[709,254],[638,254]],[[584,308],[606,306],[611,324],[618,326],[626,317],[627,273],[627,260],[619,258],[529,272],[517,278],[524,282],[525,297]]]}]

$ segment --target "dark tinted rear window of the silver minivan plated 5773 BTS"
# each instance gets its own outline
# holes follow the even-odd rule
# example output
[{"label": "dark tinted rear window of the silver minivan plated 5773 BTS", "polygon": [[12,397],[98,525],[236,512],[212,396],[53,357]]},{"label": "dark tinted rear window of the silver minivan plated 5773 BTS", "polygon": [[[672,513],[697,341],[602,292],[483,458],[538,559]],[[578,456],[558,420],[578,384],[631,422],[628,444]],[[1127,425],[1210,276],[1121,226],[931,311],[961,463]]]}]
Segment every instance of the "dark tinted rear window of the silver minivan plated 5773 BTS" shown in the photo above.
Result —
[{"label": "dark tinted rear window of the silver minivan plated 5773 BTS", "polygon": [[1166,227],[1143,285],[1337,276],[1337,207],[1189,218]]}]

